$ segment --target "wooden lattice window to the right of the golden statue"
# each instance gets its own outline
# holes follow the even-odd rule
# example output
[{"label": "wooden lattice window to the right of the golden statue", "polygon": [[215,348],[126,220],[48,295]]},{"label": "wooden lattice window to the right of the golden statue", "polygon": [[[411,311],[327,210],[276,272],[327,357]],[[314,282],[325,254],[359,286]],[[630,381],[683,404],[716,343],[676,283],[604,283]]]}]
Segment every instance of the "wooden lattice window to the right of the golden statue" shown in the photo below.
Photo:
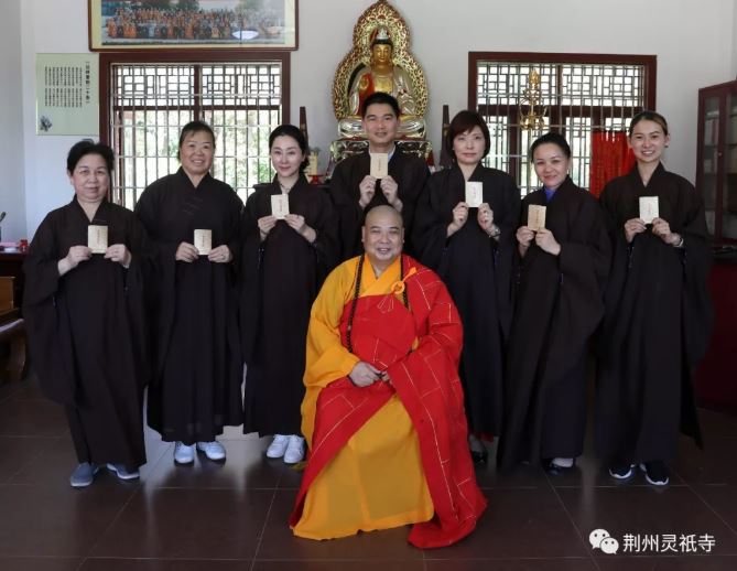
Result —
[{"label": "wooden lattice window to the right of the golden statue", "polygon": [[[470,52],[468,108],[478,109],[491,133],[485,163],[509,172],[522,195],[539,183],[528,160],[532,141],[545,130],[562,133],[573,154],[571,177],[587,187],[592,132],[626,130],[629,120],[655,105],[655,56]],[[524,88],[540,74],[544,128],[523,129]]]}]

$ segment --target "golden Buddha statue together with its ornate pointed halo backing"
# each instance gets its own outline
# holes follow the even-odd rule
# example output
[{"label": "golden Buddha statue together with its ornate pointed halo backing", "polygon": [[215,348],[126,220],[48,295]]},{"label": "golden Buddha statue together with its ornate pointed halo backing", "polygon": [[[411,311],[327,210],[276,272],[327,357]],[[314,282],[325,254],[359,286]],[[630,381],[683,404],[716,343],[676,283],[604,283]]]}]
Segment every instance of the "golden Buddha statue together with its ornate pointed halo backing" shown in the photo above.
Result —
[{"label": "golden Buddha statue together with its ornate pointed halo backing", "polygon": [[354,47],[333,80],[333,109],[343,137],[362,137],[360,107],[373,91],[393,95],[401,110],[399,133],[422,138],[427,108],[425,75],[409,52],[407,23],[386,0],[368,8],[354,28]]}]

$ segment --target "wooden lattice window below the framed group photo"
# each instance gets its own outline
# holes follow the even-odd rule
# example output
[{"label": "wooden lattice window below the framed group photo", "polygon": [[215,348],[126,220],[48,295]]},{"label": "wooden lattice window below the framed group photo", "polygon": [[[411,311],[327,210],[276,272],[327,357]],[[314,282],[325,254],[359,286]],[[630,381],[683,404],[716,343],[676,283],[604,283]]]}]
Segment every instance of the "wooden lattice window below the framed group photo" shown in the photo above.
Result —
[{"label": "wooden lattice window below the framed group photo", "polygon": [[100,133],[116,151],[117,204],[132,208],[149,184],[176,171],[180,130],[193,119],[213,127],[213,175],[241,198],[273,176],[268,140],[289,121],[289,54],[104,54],[100,67]]}]

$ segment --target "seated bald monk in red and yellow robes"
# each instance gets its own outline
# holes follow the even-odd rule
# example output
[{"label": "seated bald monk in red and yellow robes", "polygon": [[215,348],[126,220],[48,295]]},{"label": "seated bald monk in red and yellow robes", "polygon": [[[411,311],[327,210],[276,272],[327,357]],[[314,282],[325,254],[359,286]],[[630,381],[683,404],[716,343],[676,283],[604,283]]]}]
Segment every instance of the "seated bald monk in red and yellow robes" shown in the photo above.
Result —
[{"label": "seated bald monk in red and yellow robes", "polygon": [[312,308],[302,403],[310,455],[290,526],[330,539],[414,524],[445,547],[486,508],[458,380],[463,330],[445,286],[403,256],[402,217],[369,211],[366,252],[338,266]]}]

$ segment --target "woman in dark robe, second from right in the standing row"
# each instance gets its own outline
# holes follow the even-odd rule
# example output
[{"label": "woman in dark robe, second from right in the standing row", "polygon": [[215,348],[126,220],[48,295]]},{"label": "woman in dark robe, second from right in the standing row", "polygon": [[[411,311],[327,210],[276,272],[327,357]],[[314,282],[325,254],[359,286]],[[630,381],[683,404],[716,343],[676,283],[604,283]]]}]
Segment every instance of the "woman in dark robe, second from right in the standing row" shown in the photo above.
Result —
[{"label": "woman in dark robe, second from right in the standing row", "polygon": [[[508,352],[502,467],[542,462],[555,473],[583,452],[589,340],[604,316],[611,247],[597,200],[568,176],[571,147],[549,132],[530,148],[542,188],[522,202]],[[528,225],[545,207],[544,227]]]}]

